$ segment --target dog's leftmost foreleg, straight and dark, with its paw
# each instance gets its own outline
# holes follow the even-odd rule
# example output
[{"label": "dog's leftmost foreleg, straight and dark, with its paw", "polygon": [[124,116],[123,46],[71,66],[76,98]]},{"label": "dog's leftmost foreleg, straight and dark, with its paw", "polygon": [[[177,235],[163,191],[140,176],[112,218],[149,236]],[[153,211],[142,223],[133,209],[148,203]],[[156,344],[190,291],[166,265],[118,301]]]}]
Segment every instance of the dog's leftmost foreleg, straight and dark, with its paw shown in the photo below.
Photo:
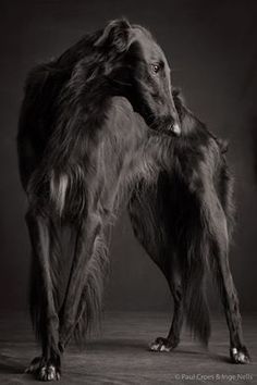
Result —
[{"label": "dog's leftmost foreleg, straight and dark, with its paw", "polygon": [[30,312],[41,344],[42,355],[32,361],[27,372],[41,381],[60,380],[61,356],[59,319],[53,298],[50,221],[28,211],[26,223],[33,249],[30,277]]}]

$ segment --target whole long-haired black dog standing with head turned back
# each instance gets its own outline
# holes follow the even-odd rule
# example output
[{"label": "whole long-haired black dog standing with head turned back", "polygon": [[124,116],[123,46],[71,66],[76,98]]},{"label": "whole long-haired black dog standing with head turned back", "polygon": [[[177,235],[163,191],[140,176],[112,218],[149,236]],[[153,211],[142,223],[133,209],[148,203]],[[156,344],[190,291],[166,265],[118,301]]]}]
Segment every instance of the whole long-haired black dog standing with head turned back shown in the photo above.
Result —
[{"label": "whole long-haired black dog standing with head turned back", "polygon": [[203,284],[209,261],[232,360],[248,361],[228,264],[233,204],[222,146],[172,92],[169,71],[151,35],[122,20],[28,76],[17,149],[28,198],[30,314],[42,350],[28,371],[40,380],[60,378],[70,338],[96,322],[110,226],[124,198],[136,236],[174,296],[169,336],[151,349],[178,345],[184,312],[208,341]]}]

